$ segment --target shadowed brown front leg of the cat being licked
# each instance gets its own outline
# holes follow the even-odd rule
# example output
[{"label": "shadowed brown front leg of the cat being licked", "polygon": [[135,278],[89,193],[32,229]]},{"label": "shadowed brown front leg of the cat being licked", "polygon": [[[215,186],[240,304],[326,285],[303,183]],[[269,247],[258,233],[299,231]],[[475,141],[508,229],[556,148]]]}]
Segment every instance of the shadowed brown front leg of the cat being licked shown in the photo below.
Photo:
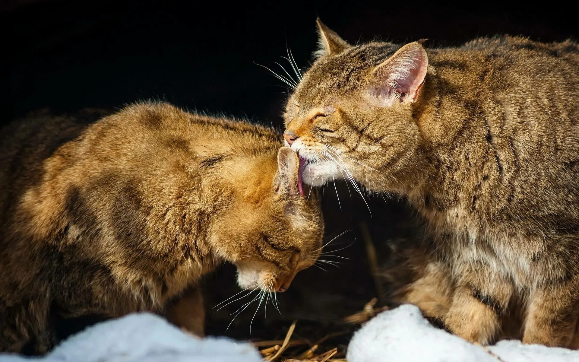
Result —
[{"label": "shadowed brown front leg of the cat being licked", "polygon": [[185,292],[168,305],[167,320],[198,337],[205,335],[205,308],[201,288],[195,287]]}]

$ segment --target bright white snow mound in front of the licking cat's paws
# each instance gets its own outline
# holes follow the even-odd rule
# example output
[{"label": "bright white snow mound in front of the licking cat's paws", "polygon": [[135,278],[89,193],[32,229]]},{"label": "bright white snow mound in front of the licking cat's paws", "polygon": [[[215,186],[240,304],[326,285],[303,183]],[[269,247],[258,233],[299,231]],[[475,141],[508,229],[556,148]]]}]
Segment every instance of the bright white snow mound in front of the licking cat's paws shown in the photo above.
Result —
[{"label": "bright white snow mound in front of the licking cat's paws", "polygon": [[[494,356],[493,356],[494,354]],[[354,334],[349,362],[571,362],[579,351],[501,341],[486,348],[440,330],[413,305],[380,313]]]}]

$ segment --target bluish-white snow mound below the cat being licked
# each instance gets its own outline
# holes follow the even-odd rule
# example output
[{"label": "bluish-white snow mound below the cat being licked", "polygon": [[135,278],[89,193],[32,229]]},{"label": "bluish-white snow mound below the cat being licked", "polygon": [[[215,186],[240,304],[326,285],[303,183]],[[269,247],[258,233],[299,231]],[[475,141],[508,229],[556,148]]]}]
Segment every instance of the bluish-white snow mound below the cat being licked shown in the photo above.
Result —
[{"label": "bluish-white snow mound below the cat being licked", "polygon": [[250,343],[192,337],[151,313],[86,328],[44,357],[0,354],[2,362],[261,362]]}]

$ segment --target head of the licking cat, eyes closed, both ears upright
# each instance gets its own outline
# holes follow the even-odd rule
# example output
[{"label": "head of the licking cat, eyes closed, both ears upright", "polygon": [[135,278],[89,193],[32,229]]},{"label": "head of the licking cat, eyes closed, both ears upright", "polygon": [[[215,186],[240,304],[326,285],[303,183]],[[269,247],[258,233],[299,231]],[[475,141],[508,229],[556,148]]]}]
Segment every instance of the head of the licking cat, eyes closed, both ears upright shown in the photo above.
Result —
[{"label": "head of the licking cat, eyes closed, both ears upright", "polygon": [[419,42],[349,45],[317,20],[319,49],[284,112],[285,145],[299,152],[304,181],[354,179],[375,189],[408,171],[420,145],[428,57]]}]

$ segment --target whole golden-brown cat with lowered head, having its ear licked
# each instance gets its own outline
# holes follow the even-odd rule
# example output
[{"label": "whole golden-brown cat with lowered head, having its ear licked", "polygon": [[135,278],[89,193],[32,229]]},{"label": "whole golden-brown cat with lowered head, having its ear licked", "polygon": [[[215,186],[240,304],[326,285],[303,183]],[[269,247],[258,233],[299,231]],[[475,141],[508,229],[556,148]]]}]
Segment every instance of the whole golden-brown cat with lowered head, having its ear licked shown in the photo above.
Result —
[{"label": "whole golden-brown cat with lowered head, having its ear licked", "polygon": [[89,313],[147,310],[203,334],[197,283],[222,261],[241,288],[288,288],[324,225],[280,140],[166,103],[3,129],[0,351],[46,352],[56,317]]}]

